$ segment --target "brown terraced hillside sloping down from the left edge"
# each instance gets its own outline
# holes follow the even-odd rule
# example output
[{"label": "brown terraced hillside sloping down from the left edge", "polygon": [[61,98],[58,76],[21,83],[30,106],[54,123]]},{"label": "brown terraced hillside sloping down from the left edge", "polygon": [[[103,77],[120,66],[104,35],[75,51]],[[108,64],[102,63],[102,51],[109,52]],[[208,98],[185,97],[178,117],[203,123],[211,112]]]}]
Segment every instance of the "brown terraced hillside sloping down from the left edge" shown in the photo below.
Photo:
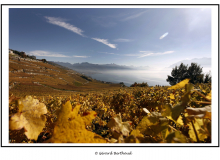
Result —
[{"label": "brown terraced hillside sloping down from the left edge", "polygon": [[120,84],[102,83],[54,63],[9,56],[9,94],[66,95],[118,87]]}]

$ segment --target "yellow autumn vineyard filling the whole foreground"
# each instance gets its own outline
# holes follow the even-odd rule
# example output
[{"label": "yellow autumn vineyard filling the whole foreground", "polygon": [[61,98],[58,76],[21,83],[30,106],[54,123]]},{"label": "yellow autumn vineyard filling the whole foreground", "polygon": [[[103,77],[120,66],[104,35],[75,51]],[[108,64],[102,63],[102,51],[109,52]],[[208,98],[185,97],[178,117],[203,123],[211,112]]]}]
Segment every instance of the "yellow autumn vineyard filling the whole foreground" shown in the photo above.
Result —
[{"label": "yellow autumn vineyard filling the whole foreground", "polygon": [[211,143],[211,83],[9,97],[9,143]]}]

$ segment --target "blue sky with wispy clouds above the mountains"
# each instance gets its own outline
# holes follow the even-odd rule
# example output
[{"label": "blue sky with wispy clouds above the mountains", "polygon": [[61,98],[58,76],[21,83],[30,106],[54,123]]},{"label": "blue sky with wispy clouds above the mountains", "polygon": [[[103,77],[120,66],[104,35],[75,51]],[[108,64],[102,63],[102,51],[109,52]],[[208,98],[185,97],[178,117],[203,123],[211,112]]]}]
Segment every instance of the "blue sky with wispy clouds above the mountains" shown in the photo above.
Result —
[{"label": "blue sky with wispy clouds above the mountains", "polygon": [[49,61],[167,67],[211,58],[211,9],[10,8],[9,48]]}]

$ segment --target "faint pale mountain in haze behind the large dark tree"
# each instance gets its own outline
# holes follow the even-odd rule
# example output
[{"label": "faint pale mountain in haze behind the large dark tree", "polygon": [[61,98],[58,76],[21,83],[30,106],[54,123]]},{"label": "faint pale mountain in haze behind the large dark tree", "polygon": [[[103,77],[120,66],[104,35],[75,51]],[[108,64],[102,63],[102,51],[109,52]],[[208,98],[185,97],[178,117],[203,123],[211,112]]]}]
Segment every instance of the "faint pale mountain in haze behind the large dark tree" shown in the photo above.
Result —
[{"label": "faint pale mountain in haze behind the large dark tree", "polygon": [[191,60],[182,60],[177,63],[172,64],[169,68],[174,68],[175,66],[179,66],[181,63],[190,66],[191,63],[197,63],[201,67],[211,68],[211,58],[194,58]]}]

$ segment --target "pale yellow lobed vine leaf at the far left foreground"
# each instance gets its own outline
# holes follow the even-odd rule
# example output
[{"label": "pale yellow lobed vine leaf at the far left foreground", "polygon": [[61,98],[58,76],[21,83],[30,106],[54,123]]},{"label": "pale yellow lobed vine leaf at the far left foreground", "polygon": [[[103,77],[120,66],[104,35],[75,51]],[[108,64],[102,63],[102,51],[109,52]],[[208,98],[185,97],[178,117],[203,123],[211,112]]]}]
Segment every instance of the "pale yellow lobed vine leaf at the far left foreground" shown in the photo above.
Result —
[{"label": "pale yellow lobed vine leaf at the far left foreground", "polygon": [[38,135],[45,126],[47,108],[38,99],[26,96],[18,100],[19,112],[14,114],[9,121],[9,129],[20,130],[25,128],[28,139],[37,140]]}]

